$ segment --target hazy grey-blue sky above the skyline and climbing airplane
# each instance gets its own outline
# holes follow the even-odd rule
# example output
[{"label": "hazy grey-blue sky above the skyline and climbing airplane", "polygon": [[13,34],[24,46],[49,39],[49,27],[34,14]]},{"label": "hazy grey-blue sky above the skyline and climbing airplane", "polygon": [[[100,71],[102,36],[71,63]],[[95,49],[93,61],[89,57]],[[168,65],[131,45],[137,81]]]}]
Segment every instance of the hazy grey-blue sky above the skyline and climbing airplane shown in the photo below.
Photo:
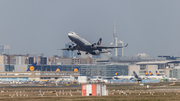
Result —
[{"label": "hazy grey-blue sky above the skyline and climbing airplane", "polygon": [[62,55],[74,31],[102,45],[129,43],[125,56],[180,54],[180,0],[1,0],[0,45],[11,54]]}]

